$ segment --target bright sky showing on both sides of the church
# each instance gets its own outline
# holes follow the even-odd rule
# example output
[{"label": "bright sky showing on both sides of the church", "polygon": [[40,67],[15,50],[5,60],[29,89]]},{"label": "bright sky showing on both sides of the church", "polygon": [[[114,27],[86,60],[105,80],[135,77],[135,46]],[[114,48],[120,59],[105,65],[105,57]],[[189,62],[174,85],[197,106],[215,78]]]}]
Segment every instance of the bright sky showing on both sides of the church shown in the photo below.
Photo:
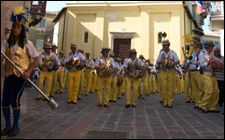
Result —
[{"label": "bright sky showing on both sides of the church", "polygon": [[[60,11],[69,1],[47,1],[46,11]],[[209,16],[204,20],[205,25],[202,26],[204,31],[209,30]]]}]

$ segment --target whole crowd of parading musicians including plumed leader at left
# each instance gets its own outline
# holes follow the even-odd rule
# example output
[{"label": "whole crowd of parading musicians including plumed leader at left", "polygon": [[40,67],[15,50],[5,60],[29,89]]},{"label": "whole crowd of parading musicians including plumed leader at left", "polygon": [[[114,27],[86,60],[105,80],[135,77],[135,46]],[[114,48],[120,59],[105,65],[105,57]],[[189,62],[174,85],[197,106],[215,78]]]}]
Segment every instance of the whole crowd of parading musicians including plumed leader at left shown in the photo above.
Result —
[{"label": "whole crowd of parading musicians including plumed leader at left", "polygon": [[[23,17],[23,18],[21,18]],[[97,90],[97,107],[109,107],[109,102],[116,102],[125,94],[126,108],[136,107],[137,98],[145,99],[146,95],[159,93],[159,102],[163,107],[172,108],[175,93],[185,92],[185,103],[196,103],[195,109],[203,113],[219,113],[216,105],[224,103],[224,58],[219,48],[214,48],[213,41],[200,42],[201,29],[193,30],[193,46],[180,60],[175,51],[170,49],[168,39],[162,41],[155,64],[143,55],[137,57],[135,49],[129,50],[129,57],[122,60],[110,53],[110,48],[103,47],[101,56],[91,58],[90,52],[77,50],[77,44],[71,43],[71,52],[65,54],[57,46],[44,44],[44,52],[38,54],[33,43],[27,39],[29,12],[17,7],[11,15],[13,22],[9,39],[4,40],[1,51],[21,69],[19,73],[6,60],[6,77],[4,81],[2,110],[6,121],[1,135],[15,136],[19,133],[20,98],[31,72],[35,69],[35,81],[44,94],[54,97],[58,91],[63,93],[67,88],[67,103],[77,104],[82,94],[88,96]],[[81,47],[80,47],[81,48]],[[187,56],[186,56],[187,55]],[[33,59],[30,64],[30,59]],[[1,56],[1,62],[4,57]],[[45,84],[43,84],[45,83]],[[103,92],[104,85],[104,92]],[[85,91],[84,91],[84,87]],[[132,94],[131,94],[132,92]],[[103,99],[104,94],[104,99]],[[36,100],[43,99],[37,92]],[[10,105],[13,109],[14,122],[10,121]],[[223,113],[222,113],[223,114]]]}]

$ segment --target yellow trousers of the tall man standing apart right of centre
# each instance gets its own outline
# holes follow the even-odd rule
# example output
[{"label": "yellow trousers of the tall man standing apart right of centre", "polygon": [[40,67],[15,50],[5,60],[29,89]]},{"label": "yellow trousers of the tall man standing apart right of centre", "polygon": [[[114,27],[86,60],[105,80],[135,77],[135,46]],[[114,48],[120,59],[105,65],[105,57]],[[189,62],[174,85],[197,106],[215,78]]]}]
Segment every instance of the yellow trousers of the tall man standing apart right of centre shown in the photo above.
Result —
[{"label": "yellow trousers of the tall man standing apart right of centre", "polygon": [[172,106],[174,101],[175,70],[161,72],[162,94],[164,106]]}]

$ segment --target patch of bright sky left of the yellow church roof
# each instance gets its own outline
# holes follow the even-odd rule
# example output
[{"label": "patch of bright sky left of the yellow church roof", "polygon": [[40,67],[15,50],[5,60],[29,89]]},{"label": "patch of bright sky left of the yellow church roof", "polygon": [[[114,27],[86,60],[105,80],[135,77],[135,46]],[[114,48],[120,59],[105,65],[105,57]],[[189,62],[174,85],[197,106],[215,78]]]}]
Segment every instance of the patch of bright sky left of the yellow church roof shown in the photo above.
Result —
[{"label": "patch of bright sky left of the yellow church roof", "polygon": [[46,11],[60,11],[69,1],[47,1]]}]

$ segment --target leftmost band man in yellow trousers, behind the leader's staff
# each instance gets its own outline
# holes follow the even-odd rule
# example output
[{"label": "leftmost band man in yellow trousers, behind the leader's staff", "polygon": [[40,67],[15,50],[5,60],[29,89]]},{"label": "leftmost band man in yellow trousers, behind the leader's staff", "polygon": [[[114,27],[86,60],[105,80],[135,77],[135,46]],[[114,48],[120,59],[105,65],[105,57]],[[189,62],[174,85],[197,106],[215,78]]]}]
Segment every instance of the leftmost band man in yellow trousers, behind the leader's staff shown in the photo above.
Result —
[{"label": "leftmost band man in yellow trousers, behind the leader's staff", "polygon": [[[53,70],[48,69],[48,65],[51,62],[56,63],[58,66],[55,68],[55,70],[59,69],[60,66],[60,60],[56,56],[55,53],[51,53],[52,46],[49,43],[44,44],[44,52],[39,55],[39,68],[40,68],[40,75],[39,75],[39,82],[38,82],[38,88],[42,90],[43,87],[43,81],[46,80],[46,89],[45,89],[45,95],[49,97],[50,90],[52,87],[52,76],[53,76]],[[41,93],[37,92],[37,98],[36,100],[40,100],[42,97]],[[47,101],[47,99],[43,99],[44,101]]]}]

